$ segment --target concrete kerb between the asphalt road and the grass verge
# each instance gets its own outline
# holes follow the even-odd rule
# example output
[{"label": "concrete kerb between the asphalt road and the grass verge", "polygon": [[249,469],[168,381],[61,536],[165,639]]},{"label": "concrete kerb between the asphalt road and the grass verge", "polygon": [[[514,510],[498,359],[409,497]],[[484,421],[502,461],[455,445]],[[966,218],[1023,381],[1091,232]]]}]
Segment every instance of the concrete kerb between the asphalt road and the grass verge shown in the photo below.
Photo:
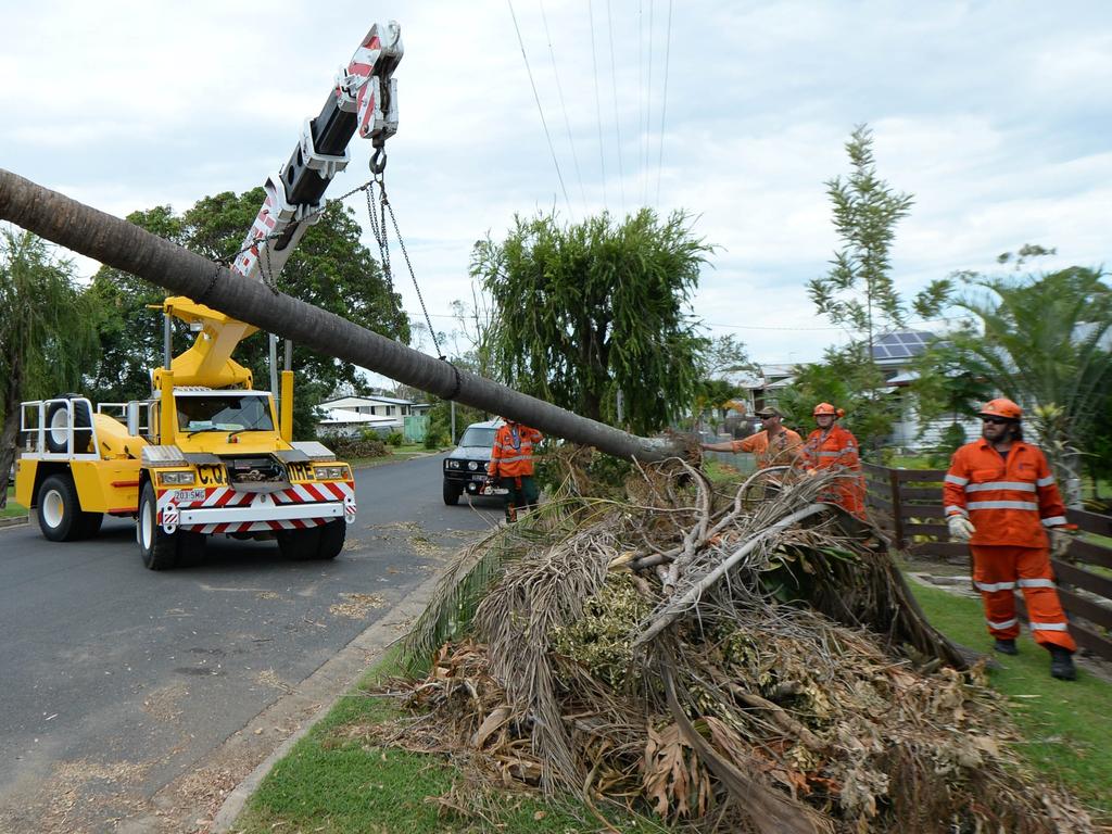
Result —
[{"label": "concrete kerb between the asphalt road and the grass verge", "polygon": [[[436,589],[437,583],[440,580],[440,576],[441,572],[437,572],[436,576],[423,583],[416,590],[398,602],[377,623],[368,627],[363,634],[340,649],[335,657],[307,677],[297,692],[281,699],[281,702],[286,702],[291,698],[312,698],[314,693],[321,689],[328,689],[334,693],[328,697],[326,703],[322,703],[311,718],[304,722],[297,732],[279,744],[242,782],[231,790],[220,810],[212,818],[211,826],[209,827],[210,834],[228,834],[231,831],[236,817],[239,816],[251,794],[258,790],[262,780],[270,773],[278,761],[286,756],[295,744],[328,715],[336,703],[351,689],[367,671],[370,665],[368,656],[380,656],[390,644],[401,636],[404,627],[425,610],[428,600],[433,596],[433,592]],[[336,693],[338,681],[342,681],[344,685],[340,692]],[[237,735],[250,737],[256,723],[260,725],[268,724],[269,721],[265,717],[267,712],[260,713],[257,718],[244,727],[240,734]]]}]

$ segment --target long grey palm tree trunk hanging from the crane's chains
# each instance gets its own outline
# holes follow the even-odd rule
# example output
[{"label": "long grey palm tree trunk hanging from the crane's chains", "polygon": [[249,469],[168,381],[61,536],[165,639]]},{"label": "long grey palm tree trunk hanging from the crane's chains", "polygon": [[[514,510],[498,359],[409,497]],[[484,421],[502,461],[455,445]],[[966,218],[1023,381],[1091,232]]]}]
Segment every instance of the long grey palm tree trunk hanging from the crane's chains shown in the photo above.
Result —
[{"label": "long grey palm tree trunk hanging from the crane's chains", "polygon": [[626,434],[459,370],[2,168],[0,219],[240,321],[445,399],[513,417],[617,457],[652,461],[676,454],[674,444]]}]

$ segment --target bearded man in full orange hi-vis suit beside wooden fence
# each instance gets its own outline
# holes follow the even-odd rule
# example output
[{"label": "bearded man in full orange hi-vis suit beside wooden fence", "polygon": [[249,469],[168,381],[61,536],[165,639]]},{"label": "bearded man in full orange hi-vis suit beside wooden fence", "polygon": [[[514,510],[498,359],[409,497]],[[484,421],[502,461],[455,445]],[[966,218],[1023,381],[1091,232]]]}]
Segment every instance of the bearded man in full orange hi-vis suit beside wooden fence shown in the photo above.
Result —
[{"label": "bearded man in full orange hi-vis suit beside wooden fence", "polygon": [[946,522],[952,539],[970,543],[973,582],[996,651],[1017,654],[1019,587],[1031,636],[1051,653],[1051,675],[1073,681],[1078,646],[1054,589],[1050,548],[1063,555],[1074,526],[1066,523],[1046,457],[1023,441],[1022,416],[1022,409],[1004,398],[981,410],[981,439],[957,449],[946,473],[942,488]]}]

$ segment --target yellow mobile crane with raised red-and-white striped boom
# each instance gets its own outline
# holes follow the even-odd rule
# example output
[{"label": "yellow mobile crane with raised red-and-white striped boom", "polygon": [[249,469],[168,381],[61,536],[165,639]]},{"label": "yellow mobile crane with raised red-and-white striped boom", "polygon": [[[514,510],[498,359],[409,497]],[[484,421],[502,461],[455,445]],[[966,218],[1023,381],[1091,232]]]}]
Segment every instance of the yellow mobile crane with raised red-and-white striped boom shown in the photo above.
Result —
[{"label": "yellow mobile crane with raised red-and-white striped boom", "polygon": [[[386,139],[397,131],[391,75],[403,52],[396,22],[370,28],[289,161],[267,180],[232,271],[247,280],[260,280],[264,268],[271,280],[281,271],[350,160],[356,132],[371,140],[371,169],[381,172]],[[69,394],[22,404],[16,500],[33,508],[52,542],[96,535],[105,515],[135,517],[152,570],[196,557],[214,535],[274,538],[295,558],[334,558],[355,519],[355,481],[325,446],[291,439],[290,344],[279,415],[274,393],[255,389],[231,358],[258,328],[206,307],[205,295],[162,304],[165,361],[151,371],[149,399],[93,408]],[[197,335],[177,357],[175,318]]]}]

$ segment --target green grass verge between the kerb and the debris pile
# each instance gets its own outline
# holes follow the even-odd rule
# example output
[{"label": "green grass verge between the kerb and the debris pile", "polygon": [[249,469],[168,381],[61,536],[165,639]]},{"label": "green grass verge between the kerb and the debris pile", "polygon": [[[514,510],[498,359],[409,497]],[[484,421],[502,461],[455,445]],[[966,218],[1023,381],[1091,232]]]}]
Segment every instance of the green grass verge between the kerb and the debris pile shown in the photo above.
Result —
[{"label": "green grass verge between the kerb and the debris pile", "polygon": [[[251,797],[232,831],[386,834],[406,832],[539,832],[572,834],[597,831],[588,811],[546,802],[538,795],[499,793],[484,804],[484,816],[446,814],[434,801],[460,778],[443,756],[417,754],[351,739],[351,727],[389,722],[398,712],[388,698],[368,694],[397,674],[396,654],[377,664],[328,716],[295,745]],[[659,828],[624,817],[624,832]]]}]

